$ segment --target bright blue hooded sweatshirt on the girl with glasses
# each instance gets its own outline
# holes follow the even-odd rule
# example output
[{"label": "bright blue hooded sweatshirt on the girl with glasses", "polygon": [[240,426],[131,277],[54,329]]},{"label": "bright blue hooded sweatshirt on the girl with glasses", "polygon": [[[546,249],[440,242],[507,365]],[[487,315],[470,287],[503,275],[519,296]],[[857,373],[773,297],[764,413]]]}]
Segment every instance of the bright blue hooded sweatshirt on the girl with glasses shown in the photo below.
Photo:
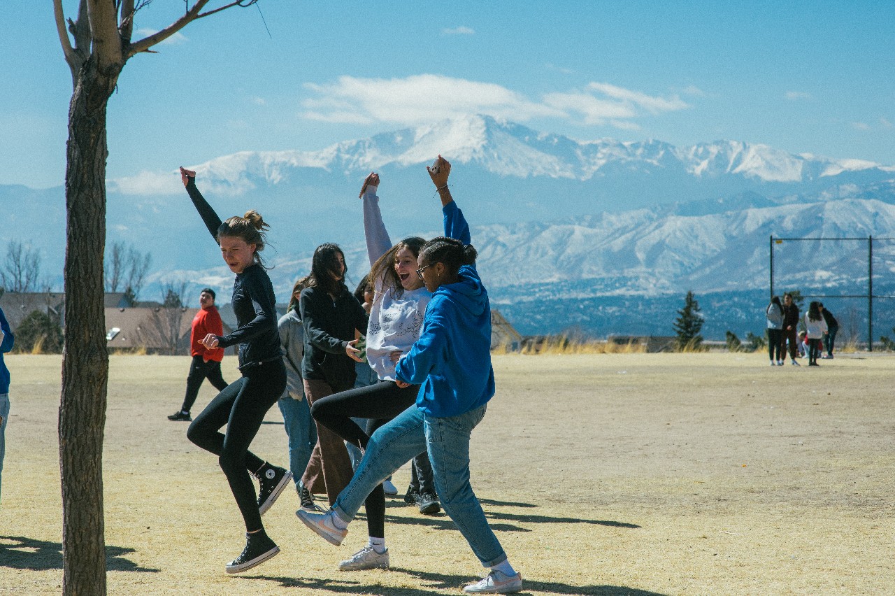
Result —
[{"label": "bright blue hooded sweatshirt on the girl with glasses", "polygon": [[[456,203],[443,210],[445,235],[469,243],[469,226]],[[420,338],[395,369],[398,379],[420,385],[416,406],[436,418],[467,413],[494,396],[488,291],[472,265],[461,267],[457,277],[432,293]]]}]

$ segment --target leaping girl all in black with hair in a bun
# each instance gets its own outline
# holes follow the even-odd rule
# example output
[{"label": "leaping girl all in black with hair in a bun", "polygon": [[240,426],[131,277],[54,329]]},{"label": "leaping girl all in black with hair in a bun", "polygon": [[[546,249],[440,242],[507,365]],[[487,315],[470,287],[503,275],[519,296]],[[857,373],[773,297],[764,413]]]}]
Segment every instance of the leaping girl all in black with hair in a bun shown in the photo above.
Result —
[{"label": "leaping girl all in black with hair in a bun", "polygon": [[[286,387],[286,367],[277,333],[277,299],[260,258],[268,226],[257,211],[221,222],[196,188],[196,173],[181,167],[180,175],[192,204],[220,245],[224,262],[236,274],[232,302],[238,327],[227,336],[209,333],[202,344],[209,350],[239,344],[239,370],[243,376],[218,393],[186,431],[193,443],[217,456],[243,515],[245,548],[226,564],[226,572],[236,574],[279,552],[264,531],[261,515],[292,478],[288,470],[268,464],[249,451],[265,414]],[[226,434],[220,432],[225,425]],[[260,483],[257,500],[250,474]]]}]

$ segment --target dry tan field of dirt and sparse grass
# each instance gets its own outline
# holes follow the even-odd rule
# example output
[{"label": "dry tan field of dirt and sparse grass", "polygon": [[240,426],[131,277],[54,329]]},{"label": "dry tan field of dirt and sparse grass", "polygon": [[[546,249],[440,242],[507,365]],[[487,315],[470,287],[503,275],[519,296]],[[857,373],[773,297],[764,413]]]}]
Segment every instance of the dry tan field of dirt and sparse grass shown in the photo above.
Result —
[{"label": "dry tan field of dirt and sparse grass", "polygon": [[[62,582],[56,421],[61,359],[13,374],[0,507],[0,594]],[[234,358],[225,378],[234,379]],[[531,594],[895,593],[891,354],[819,368],[762,354],[497,356],[473,432],[473,487]],[[484,575],[447,517],[389,499],[392,568],[342,573],[366,542],[330,546],[265,515],[282,552],[244,575],[243,526],[213,456],[166,420],[189,361],[116,356],[105,450],[112,594],[459,594]],[[197,408],[213,395],[202,388]],[[277,408],[253,450],[286,464]],[[395,484],[402,491],[409,473]]]}]

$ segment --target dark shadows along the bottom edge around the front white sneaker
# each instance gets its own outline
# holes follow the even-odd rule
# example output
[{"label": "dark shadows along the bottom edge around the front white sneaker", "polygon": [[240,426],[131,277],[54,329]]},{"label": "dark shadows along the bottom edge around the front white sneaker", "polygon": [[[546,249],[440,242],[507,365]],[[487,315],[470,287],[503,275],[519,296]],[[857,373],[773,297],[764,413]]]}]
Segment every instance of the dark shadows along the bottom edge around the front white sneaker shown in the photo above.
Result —
[{"label": "dark shadows along the bottom edge around the front white sneaker", "polygon": [[[331,580],[313,577],[274,577],[270,575],[243,576],[242,579],[263,579],[279,583],[284,588],[306,588],[337,594],[379,594],[380,596],[413,596],[413,594],[439,594],[445,590],[461,590],[467,583],[476,581],[469,575],[430,574],[400,567],[392,567],[381,573],[401,573],[419,580],[419,587],[395,588],[380,583],[354,582],[351,580]],[[520,594],[569,594],[570,596],[664,596],[661,592],[638,590],[621,585],[568,585],[567,583],[536,582],[523,576],[523,590]]]}]

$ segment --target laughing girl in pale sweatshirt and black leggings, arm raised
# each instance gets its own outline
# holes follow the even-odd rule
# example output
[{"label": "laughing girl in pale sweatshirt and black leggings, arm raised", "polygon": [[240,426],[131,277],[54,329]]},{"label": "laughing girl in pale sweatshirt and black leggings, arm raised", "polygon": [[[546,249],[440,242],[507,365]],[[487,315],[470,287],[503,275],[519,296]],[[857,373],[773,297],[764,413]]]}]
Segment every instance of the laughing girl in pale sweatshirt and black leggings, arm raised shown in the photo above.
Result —
[{"label": "laughing girl in pale sweatshirt and black leggings, arm raised", "polygon": [[[367,176],[361,188],[363,200],[363,229],[367,241],[367,256],[373,284],[370,325],[367,328],[366,356],[376,371],[378,380],[369,387],[357,387],[321,399],[311,407],[314,418],[328,429],[358,448],[366,448],[370,436],[383,424],[404,412],[416,400],[419,387],[401,387],[396,382],[395,362],[410,350],[420,336],[422,319],[431,297],[422,279],[415,275],[417,256],[425,241],[405,238],[392,245],[379,209],[379,175]],[[447,225],[446,225],[447,229]],[[353,418],[356,417],[356,418]],[[357,418],[367,418],[362,430]],[[426,457],[424,449],[416,454]],[[369,541],[342,561],[339,569],[356,571],[374,567],[388,567],[388,548],[385,541],[385,482],[366,496],[367,530]],[[431,500],[439,507],[432,490]]]}]

